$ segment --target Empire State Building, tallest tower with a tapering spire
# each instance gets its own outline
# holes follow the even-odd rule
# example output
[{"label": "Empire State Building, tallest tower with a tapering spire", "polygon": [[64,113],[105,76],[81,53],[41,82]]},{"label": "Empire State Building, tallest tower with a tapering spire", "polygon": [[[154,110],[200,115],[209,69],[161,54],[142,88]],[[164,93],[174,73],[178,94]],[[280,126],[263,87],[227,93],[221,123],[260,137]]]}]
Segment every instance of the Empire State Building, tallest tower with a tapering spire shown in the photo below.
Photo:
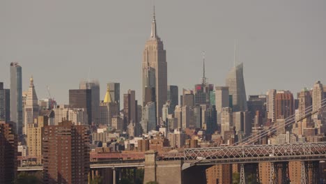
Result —
[{"label": "Empire State Building, tallest tower with a tapering spire", "polygon": [[[146,99],[150,99],[148,95],[155,95],[156,117],[158,121],[162,117],[162,107],[167,100],[167,63],[163,42],[157,35],[155,7],[150,38],[146,42],[145,49],[143,49],[142,65],[143,107],[148,102]],[[148,94],[148,91],[153,91],[153,94]]]}]

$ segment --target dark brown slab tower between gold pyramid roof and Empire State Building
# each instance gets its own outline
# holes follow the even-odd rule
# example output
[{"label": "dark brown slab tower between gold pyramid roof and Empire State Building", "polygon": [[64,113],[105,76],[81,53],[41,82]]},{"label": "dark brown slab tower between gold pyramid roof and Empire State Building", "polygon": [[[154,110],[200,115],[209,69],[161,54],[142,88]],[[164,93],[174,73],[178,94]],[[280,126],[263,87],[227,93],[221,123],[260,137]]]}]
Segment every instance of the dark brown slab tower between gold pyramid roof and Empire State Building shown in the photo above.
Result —
[{"label": "dark brown slab tower between gold pyramid roof and Empire State Building", "polygon": [[125,128],[131,121],[137,121],[137,101],[135,100],[135,91],[128,90],[123,94],[123,116],[125,116]]}]

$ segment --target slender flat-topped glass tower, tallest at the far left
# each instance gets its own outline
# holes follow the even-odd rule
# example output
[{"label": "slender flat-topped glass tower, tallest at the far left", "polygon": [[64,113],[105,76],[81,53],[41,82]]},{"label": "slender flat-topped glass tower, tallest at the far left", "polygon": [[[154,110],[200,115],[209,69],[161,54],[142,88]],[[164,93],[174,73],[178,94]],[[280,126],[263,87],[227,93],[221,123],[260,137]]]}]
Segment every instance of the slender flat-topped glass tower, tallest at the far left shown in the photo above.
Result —
[{"label": "slender flat-topped glass tower, tallest at the far left", "polygon": [[10,120],[22,135],[22,67],[18,63],[10,63]]}]

